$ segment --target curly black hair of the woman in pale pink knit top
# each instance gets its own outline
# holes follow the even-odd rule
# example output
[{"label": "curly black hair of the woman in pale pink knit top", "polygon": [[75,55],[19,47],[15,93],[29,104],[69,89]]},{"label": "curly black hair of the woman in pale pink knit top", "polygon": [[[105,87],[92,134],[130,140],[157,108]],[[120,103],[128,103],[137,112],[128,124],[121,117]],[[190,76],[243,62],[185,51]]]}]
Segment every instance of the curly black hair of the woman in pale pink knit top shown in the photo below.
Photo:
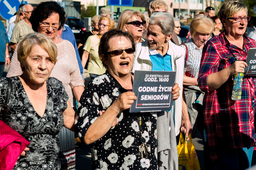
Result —
[{"label": "curly black hair of the woman in pale pink knit top", "polygon": [[66,18],[64,8],[60,6],[60,4],[56,1],[41,2],[38,4],[36,9],[32,11],[31,16],[29,18],[29,21],[32,25],[32,29],[35,32],[38,32],[37,27],[39,25],[39,22],[49,18],[53,13],[59,14],[60,26],[58,30],[60,30],[66,22]]}]

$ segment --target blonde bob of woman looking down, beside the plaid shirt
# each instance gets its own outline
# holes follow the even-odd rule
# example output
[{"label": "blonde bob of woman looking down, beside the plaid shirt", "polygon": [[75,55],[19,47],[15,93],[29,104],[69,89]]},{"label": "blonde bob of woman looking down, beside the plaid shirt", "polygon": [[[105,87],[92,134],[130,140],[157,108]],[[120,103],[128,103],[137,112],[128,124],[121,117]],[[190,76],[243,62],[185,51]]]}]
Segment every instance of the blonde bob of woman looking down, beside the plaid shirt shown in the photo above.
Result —
[{"label": "blonde bob of woman looking down, beside the plaid shirt", "polygon": [[214,30],[214,23],[212,19],[207,18],[206,16],[197,15],[196,17],[193,18],[189,27],[190,27],[191,37],[194,39],[194,35],[196,33],[211,35],[211,33]]}]

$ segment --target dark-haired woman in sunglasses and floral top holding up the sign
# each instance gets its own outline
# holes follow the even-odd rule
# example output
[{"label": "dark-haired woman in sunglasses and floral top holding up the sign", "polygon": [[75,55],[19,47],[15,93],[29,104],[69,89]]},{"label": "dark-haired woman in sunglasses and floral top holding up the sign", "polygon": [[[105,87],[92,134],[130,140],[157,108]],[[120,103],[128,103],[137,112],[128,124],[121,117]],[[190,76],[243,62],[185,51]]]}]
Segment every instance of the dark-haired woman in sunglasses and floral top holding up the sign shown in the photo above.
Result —
[{"label": "dark-haired woman in sunglasses and floral top holding up the sign", "polygon": [[137,99],[130,74],[134,52],[130,34],[112,29],[101,37],[99,56],[107,71],[89,82],[75,123],[79,138],[91,146],[92,169],[157,169],[156,112],[129,112]]}]

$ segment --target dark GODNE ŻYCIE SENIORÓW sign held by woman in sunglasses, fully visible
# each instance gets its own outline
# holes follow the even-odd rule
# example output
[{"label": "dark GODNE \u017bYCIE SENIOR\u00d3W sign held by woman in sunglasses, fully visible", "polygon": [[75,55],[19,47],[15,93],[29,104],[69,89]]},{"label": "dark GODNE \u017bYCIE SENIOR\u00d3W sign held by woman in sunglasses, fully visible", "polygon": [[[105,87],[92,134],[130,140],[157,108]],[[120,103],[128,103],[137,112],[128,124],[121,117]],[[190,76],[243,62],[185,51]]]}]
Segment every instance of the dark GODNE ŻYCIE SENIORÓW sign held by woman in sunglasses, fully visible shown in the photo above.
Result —
[{"label": "dark GODNE \u017bYCIE SENIOR\u00d3W sign held by woman in sunglasses, fully visible", "polygon": [[133,92],[137,96],[130,108],[134,112],[169,111],[172,108],[172,89],[176,71],[134,72]]}]

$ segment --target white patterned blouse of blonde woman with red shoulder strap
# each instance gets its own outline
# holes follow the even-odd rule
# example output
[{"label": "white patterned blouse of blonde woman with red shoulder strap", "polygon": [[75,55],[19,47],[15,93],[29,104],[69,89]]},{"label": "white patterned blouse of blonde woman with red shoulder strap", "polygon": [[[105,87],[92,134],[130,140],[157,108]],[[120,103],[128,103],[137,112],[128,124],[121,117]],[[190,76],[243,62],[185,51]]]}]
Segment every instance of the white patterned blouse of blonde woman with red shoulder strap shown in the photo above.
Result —
[{"label": "white patterned blouse of blonde woman with red shoulder strap", "polygon": [[[185,63],[185,68],[187,68],[186,71],[197,78],[199,74],[199,67],[203,49],[200,50],[194,44],[192,38],[185,44],[188,47],[188,59]],[[184,45],[181,46],[184,48],[184,50],[186,50],[186,47]]]}]

